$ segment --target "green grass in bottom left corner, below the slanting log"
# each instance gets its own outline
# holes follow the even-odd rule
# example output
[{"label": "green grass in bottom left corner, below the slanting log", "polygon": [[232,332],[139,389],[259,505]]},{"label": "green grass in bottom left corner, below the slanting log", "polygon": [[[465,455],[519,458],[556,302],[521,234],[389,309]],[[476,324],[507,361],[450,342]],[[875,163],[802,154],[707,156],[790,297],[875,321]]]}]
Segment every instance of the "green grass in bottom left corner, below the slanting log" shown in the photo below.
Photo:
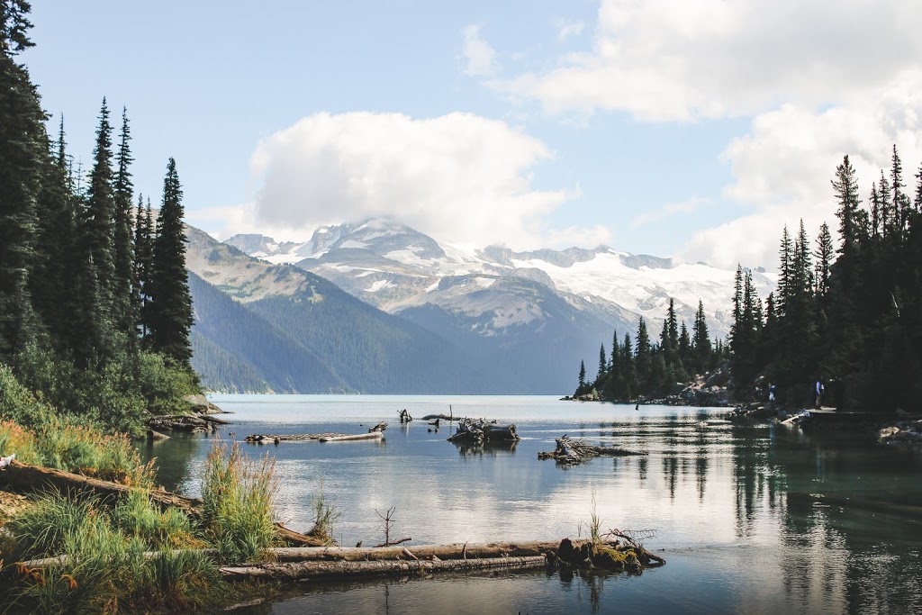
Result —
[{"label": "green grass in bottom left corner, below the slanting log", "polygon": [[[129,514],[137,520],[129,520]],[[201,543],[184,544],[191,538],[188,520],[178,523],[171,514],[161,514],[146,497],[132,496],[110,514],[94,498],[48,493],[6,529],[13,537],[9,554],[15,561],[65,556],[42,568],[20,567],[17,584],[0,585],[0,604],[11,609],[190,609],[210,604],[226,590],[214,562],[201,551],[163,549]],[[149,550],[160,550],[160,555],[146,557]]]}]

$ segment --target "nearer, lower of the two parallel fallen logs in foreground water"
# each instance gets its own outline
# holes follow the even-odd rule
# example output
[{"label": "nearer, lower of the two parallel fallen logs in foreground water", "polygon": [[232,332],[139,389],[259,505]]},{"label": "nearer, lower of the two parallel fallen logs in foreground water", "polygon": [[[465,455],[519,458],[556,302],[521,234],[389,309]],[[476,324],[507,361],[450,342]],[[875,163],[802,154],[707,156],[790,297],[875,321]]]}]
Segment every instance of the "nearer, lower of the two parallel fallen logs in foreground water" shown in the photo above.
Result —
[{"label": "nearer, lower of the two parallel fallen logs in foreground water", "polygon": [[[418,556],[419,557],[419,556]],[[264,563],[253,566],[222,566],[220,574],[227,581],[270,578],[286,581],[364,574],[431,574],[482,568],[541,568],[543,555],[494,557],[479,560],[372,560],[360,562],[293,562]]]}]

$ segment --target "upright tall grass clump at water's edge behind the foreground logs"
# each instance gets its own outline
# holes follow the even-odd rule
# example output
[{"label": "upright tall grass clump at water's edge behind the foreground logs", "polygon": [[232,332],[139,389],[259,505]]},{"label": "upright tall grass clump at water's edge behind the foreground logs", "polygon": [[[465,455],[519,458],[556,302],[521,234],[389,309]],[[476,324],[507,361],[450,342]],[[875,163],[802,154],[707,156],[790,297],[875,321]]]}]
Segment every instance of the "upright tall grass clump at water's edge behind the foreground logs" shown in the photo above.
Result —
[{"label": "upright tall grass clump at water's edge behind the foreground logs", "polygon": [[202,520],[225,562],[254,562],[276,537],[273,499],[278,490],[275,458],[258,462],[240,444],[215,444],[202,479]]}]

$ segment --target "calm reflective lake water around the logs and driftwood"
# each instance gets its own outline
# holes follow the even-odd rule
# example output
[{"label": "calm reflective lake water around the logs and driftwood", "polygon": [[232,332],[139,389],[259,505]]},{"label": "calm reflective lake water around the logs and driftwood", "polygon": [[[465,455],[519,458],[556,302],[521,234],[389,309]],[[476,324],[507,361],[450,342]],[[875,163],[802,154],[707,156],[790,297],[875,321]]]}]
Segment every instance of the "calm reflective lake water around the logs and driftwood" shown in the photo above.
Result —
[{"label": "calm reflective lake water around the logs and driftwood", "polygon": [[[656,530],[667,565],[639,576],[517,572],[311,583],[246,613],[919,613],[922,455],[764,424],[707,425],[726,408],[620,406],[547,396],[213,396],[233,414],[218,436],[148,445],[160,483],[200,490],[205,455],[230,432],[366,432],[384,442],[244,444],[276,456],[280,520],[312,523],[323,491],[342,545],[556,539],[603,528]],[[514,447],[468,449],[430,432],[426,414],[512,422]],[[397,413],[417,418],[401,426]],[[576,467],[538,461],[567,433],[647,456]],[[377,511],[377,512],[376,512]]]}]

